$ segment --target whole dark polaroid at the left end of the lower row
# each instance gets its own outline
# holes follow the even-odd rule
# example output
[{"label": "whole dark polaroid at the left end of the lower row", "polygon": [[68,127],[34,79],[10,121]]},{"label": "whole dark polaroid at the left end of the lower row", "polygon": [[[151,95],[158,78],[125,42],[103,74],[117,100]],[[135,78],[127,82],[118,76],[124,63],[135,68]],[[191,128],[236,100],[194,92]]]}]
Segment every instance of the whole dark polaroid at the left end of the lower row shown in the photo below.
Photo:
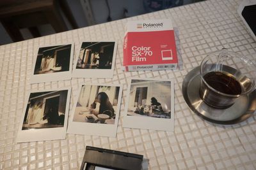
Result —
[{"label": "whole dark polaroid at the left end of the lower row", "polygon": [[31,92],[24,106],[16,142],[65,139],[69,102],[70,88]]}]

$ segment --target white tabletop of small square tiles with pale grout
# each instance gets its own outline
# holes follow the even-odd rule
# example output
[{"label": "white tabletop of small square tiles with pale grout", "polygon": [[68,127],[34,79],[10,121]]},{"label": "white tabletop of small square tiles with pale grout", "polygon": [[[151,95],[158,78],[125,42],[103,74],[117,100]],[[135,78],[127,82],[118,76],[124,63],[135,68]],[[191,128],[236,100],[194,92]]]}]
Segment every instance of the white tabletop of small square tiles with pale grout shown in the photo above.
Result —
[{"label": "white tabletop of small square tiles with pale grout", "polygon": [[[241,124],[213,125],[189,110],[181,92],[184,76],[206,53],[225,47],[255,60],[256,43],[236,12],[239,2],[209,0],[0,46],[0,169],[79,169],[86,145],[142,154],[150,160],[149,169],[256,169],[256,115]],[[171,18],[179,28],[182,71],[121,71],[125,23],[149,18]],[[102,39],[118,40],[113,79],[29,84],[38,46],[74,41],[77,50],[83,40]],[[122,114],[127,78],[132,76],[175,80],[175,132],[124,129],[121,118],[116,138],[68,134],[65,140],[15,143],[25,95],[30,90],[71,86],[72,110],[79,83],[122,83]]]}]

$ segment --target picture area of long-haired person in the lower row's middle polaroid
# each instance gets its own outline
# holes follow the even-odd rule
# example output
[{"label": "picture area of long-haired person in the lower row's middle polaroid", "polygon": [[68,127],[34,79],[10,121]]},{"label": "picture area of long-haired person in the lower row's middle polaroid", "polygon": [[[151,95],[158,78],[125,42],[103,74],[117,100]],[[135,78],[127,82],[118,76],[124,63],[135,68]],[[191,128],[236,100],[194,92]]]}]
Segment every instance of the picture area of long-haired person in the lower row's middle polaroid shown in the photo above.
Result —
[{"label": "picture area of long-haired person in the lower row's middle polaroid", "polygon": [[115,124],[120,87],[83,85],[79,94],[74,122]]}]

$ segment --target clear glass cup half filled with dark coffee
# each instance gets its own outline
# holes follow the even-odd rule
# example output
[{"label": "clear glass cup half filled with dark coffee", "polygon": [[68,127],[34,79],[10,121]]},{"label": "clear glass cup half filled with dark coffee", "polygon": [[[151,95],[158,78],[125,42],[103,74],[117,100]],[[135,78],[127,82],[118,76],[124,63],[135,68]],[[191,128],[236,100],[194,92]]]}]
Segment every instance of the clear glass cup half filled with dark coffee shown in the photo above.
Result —
[{"label": "clear glass cup half filled with dark coffee", "polygon": [[223,49],[202,60],[200,78],[199,93],[204,103],[225,109],[255,89],[256,66],[243,55]]}]

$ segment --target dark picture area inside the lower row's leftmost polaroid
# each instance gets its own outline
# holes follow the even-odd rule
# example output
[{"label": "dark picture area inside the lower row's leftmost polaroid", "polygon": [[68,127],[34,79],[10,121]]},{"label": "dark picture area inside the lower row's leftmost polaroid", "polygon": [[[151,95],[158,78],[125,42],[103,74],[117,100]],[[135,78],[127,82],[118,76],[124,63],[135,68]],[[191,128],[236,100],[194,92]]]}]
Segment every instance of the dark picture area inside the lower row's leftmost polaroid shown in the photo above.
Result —
[{"label": "dark picture area inside the lower row's leftmost polaroid", "polygon": [[63,127],[67,93],[68,90],[31,93],[22,130]]}]

